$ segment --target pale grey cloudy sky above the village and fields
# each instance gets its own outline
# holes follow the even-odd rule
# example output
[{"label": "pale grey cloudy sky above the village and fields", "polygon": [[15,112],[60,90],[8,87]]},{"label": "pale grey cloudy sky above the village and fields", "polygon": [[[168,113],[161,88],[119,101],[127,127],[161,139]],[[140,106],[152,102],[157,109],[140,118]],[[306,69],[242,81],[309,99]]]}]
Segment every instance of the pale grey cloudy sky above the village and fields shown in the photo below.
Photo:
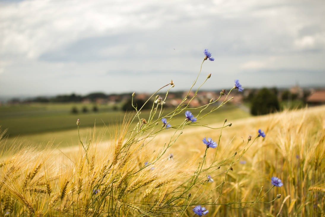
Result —
[{"label": "pale grey cloudy sky above the village and fields", "polygon": [[0,0],[0,95],[325,86],[325,2]]}]

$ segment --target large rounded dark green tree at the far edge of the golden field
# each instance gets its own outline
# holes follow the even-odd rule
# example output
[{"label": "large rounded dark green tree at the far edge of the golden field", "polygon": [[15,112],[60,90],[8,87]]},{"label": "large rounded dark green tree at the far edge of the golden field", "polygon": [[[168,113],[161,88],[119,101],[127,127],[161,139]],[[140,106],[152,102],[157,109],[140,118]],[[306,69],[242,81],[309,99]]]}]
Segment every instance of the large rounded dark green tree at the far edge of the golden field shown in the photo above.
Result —
[{"label": "large rounded dark green tree at the far edge of the golden field", "polygon": [[252,100],[252,115],[265,115],[279,111],[279,109],[280,106],[277,96],[267,88],[261,89]]}]

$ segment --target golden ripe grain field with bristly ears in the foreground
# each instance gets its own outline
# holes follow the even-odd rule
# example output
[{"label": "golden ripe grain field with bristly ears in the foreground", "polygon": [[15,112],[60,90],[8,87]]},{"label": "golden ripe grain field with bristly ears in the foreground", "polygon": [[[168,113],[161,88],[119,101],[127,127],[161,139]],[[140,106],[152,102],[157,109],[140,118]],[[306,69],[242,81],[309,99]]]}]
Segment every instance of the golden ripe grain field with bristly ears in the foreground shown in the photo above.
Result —
[{"label": "golden ripe grain field with bristly ears in the foreground", "polygon": [[61,150],[10,144],[1,153],[0,215],[194,216],[202,205],[206,216],[325,216],[325,106],[211,128],[130,122],[111,141],[97,132]]}]

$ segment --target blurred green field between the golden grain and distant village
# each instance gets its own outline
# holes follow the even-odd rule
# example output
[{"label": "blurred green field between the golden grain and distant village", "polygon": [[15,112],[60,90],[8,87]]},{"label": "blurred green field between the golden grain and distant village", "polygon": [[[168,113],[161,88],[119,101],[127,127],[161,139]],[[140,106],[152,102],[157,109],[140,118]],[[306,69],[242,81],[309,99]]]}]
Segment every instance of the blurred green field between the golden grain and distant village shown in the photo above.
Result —
[{"label": "blurred green field between the golden grain and distant village", "polygon": [[[75,106],[81,110],[86,106],[87,113],[79,112],[72,114],[71,109]],[[78,131],[76,120],[81,120],[81,134],[86,136],[92,131],[96,124],[96,132],[104,130],[104,139],[110,138],[110,133],[116,124],[123,120],[125,112],[113,111],[111,106],[98,105],[98,112],[92,112],[93,104],[67,103],[32,103],[26,105],[0,106],[1,130],[7,130],[7,143],[14,140],[17,142],[28,142],[31,145],[43,147],[49,141],[60,146],[78,144]],[[171,109],[166,109],[163,114],[168,114]],[[208,110],[207,110],[208,111]],[[148,118],[150,111],[143,111],[141,117]],[[193,114],[196,112],[193,111]],[[234,105],[225,105],[210,114],[207,118],[200,120],[201,124],[220,122],[227,117],[228,121],[248,117],[250,114]],[[175,117],[183,119],[184,114]],[[173,121],[171,124],[173,125]]]}]

